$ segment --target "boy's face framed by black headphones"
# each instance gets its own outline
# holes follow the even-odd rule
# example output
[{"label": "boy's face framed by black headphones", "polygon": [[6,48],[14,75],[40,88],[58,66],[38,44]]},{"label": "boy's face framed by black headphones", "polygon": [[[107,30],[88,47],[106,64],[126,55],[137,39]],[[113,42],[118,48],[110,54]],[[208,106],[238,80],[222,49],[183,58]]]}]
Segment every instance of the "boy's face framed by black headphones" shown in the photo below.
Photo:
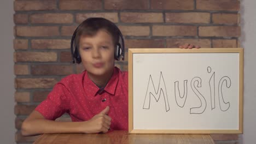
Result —
[{"label": "boy's face framed by black headphones", "polygon": [[88,74],[104,76],[112,74],[114,68],[114,44],[112,36],[99,30],[93,36],[81,36],[79,53]]}]

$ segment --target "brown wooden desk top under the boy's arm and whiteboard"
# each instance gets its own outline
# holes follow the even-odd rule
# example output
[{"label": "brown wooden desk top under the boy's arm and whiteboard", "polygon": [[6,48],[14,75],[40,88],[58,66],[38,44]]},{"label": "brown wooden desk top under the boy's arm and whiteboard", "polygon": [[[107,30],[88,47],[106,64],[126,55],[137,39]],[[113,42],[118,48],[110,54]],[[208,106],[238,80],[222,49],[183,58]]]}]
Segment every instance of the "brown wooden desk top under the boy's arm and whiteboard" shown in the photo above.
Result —
[{"label": "brown wooden desk top under the boy's arm and whiteboard", "polygon": [[128,134],[110,131],[107,134],[43,134],[34,143],[214,143],[210,135],[198,134]]}]

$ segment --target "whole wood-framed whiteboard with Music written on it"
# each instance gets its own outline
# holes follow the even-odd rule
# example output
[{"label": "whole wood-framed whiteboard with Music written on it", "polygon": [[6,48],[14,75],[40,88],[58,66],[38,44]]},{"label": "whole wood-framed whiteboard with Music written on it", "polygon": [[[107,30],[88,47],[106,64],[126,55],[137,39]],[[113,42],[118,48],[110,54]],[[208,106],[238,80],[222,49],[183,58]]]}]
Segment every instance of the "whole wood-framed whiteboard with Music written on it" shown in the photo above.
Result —
[{"label": "whole wood-framed whiteboard with Music written on it", "polygon": [[129,49],[129,133],[242,133],[243,49]]}]

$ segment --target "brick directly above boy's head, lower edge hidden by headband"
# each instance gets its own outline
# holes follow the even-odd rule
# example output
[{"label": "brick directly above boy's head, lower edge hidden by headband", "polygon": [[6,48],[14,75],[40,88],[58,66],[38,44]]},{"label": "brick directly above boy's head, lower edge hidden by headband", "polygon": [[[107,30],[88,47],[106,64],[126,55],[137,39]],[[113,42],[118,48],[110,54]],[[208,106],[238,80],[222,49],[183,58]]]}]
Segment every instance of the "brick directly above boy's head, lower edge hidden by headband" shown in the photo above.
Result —
[{"label": "brick directly above boy's head, lower edge hidden by headband", "polygon": [[104,17],[114,23],[118,22],[118,13],[86,13],[76,15],[77,23],[81,23],[89,17]]}]

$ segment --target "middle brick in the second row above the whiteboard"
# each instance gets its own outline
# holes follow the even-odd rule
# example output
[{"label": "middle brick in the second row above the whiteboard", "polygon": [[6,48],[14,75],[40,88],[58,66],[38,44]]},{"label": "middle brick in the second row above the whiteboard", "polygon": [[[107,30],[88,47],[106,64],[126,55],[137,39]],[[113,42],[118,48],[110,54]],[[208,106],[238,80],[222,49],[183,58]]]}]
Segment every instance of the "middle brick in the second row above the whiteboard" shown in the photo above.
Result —
[{"label": "middle brick in the second row above the whiteboard", "polygon": [[153,26],[154,36],[196,36],[196,26]]}]

